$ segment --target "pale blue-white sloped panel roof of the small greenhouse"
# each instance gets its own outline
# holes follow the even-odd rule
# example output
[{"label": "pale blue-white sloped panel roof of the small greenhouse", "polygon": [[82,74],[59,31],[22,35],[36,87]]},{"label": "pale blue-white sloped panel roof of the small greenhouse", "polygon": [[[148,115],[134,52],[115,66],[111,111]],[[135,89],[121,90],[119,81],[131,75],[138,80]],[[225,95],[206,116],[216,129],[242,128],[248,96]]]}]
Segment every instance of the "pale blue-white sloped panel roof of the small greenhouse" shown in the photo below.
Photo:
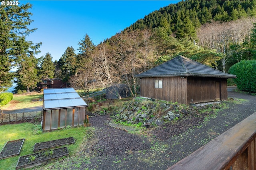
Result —
[{"label": "pale blue-white sloped panel roof of the small greenhouse", "polygon": [[44,110],[87,106],[73,88],[44,89]]}]

